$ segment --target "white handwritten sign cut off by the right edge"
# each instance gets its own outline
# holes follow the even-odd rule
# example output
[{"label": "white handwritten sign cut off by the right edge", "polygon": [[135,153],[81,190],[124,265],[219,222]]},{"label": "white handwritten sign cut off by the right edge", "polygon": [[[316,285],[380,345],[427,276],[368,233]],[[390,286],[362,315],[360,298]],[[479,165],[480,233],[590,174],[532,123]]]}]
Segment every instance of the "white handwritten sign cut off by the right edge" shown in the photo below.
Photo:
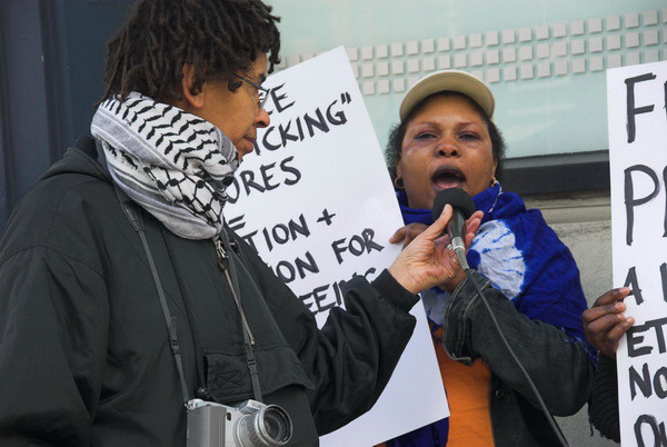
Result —
[{"label": "white handwritten sign cut off by the right edge", "polygon": [[619,346],[621,444],[667,445],[667,62],[607,71],[614,282],[635,325]]}]

